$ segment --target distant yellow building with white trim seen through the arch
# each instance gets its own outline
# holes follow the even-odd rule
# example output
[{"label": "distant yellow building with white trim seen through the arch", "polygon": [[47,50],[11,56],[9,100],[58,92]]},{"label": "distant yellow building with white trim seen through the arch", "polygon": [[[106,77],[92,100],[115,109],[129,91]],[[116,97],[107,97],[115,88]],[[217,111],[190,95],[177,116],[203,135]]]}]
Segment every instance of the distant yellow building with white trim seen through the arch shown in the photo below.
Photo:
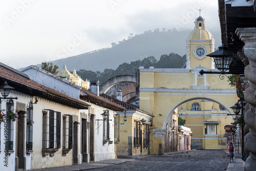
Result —
[{"label": "distant yellow building with white trim seen through the arch", "polygon": [[[199,108],[199,106],[201,108]],[[222,106],[210,100],[188,101],[178,113],[186,120],[185,126],[193,131],[191,149],[226,148],[225,125],[232,122]]]}]

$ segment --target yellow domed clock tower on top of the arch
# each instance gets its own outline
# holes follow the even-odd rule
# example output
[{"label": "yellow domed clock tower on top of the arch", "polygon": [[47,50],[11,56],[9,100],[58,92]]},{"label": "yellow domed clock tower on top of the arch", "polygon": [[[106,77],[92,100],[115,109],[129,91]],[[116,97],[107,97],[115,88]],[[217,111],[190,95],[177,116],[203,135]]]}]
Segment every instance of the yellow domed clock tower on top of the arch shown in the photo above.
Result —
[{"label": "yellow domed clock tower on top of the arch", "polygon": [[195,29],[190,32],[186,40],[186,69],[193,69],[198,66],[215,69],[214,60],[206,57],[207,54],[214,52],[214,37],[206,29],[206,22],[202,16],[196,18],[194,23]]}]

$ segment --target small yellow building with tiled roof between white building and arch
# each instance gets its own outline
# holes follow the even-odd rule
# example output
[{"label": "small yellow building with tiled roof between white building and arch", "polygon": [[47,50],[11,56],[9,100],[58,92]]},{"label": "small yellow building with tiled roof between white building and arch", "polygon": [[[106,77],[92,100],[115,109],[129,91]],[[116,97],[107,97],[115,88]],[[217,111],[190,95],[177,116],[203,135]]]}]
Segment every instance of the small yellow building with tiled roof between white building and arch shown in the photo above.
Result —
[{"label": "small yellow building with tiled roof between white building and arch", "polygon": [[101,93],[101,97],[112,101],[125,108],[123,112],[117,111],[120,117],[119,125],[116,125],[115,134],[120,131],[119,136],[115,136],[116,154],[118,156],[137,156],[150,154],[150,137],[153,130],[154,116],[147,113],[134,105],[123,102],[122,91],[118,90],[117,98],[113,98]]}]

